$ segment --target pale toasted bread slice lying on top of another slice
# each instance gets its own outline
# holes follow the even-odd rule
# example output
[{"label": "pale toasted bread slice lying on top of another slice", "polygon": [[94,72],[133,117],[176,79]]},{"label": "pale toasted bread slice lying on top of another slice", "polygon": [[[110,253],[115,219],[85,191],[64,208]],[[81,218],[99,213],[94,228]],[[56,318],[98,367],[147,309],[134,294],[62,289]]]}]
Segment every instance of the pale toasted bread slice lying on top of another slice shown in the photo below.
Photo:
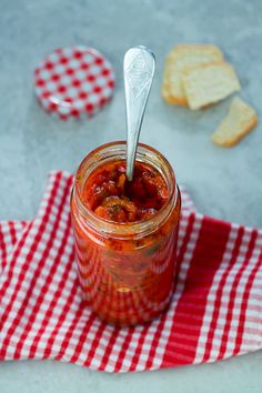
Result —
[{"label": "pale toasted bread slice lying on top of another slice", "polygon": [[201,64],[182,75],[189,107],[193,110],[218,102],[241,89],[232,66],[225,61]]}]

